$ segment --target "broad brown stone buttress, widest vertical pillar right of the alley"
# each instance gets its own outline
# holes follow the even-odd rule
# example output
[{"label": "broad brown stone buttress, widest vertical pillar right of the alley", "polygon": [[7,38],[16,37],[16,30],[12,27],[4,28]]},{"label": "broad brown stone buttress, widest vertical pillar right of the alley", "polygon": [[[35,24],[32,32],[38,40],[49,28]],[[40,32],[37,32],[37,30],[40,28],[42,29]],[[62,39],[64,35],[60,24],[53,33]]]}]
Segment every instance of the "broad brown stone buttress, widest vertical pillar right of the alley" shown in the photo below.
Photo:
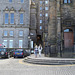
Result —
[{"label": "broad brown stone buttress, widest vertical pillar right of the alley", "polygon": [[48,44],[50,45],[50,56],[56,57],[56,1],[50,1],[48,25]]}]

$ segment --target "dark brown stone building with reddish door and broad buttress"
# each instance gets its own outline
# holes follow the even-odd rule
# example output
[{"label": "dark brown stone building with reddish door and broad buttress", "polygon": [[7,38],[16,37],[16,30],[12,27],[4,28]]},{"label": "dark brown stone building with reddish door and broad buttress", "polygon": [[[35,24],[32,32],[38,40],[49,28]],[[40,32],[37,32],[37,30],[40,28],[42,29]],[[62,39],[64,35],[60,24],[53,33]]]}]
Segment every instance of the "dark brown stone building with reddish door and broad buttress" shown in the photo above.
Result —
[{"label": "dark brown stone building with reddish door and broad buttress", "polygon": [[51,0],[48,25],[50,55],[74,57],[75,52],[75,1]]}]

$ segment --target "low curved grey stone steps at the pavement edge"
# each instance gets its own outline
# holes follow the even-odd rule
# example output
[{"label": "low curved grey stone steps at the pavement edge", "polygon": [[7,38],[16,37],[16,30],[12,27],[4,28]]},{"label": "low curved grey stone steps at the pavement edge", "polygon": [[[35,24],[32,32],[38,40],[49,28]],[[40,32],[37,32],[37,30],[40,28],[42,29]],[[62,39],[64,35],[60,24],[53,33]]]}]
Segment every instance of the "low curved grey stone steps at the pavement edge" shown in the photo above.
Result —
[{"label": "low curved grey stone steps at the pavement edge", "polygon": [[26,59],[24,62],[40,65],[68,65],[75,64],[75,60],[45,60],[45,59]]}]

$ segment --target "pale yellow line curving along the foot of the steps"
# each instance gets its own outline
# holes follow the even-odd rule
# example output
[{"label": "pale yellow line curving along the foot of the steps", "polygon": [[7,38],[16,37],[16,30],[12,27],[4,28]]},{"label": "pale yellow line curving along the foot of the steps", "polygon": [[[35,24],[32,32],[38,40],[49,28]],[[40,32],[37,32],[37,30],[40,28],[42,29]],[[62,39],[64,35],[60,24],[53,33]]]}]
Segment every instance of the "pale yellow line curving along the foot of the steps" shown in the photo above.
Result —
[{"label": "pale yellow line curving along the foot of the steps", "polygon": [[24,59],[21,59],[19,60],[19,63],[20,64],[23,64],[23,65],[27,65],[27,66],[43,66],[43,67],[67,67],[67,66],[75,66],[75,64],[72,64],[72,65],[39,65],[39,64],[31,64],[31,63],[26,63],[26,62],[23,62]]}]

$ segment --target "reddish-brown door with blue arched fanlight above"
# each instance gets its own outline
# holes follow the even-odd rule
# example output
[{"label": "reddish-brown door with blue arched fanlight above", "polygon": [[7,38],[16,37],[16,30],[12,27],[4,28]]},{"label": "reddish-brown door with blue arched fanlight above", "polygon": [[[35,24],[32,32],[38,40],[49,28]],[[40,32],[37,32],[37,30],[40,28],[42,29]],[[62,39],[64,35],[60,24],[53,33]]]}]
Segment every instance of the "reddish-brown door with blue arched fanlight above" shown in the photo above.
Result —
[{"label": "reddish-brown door with blue arched fanlight above", "polygon": [[73,47],[73,31],[71,29],[64,30],[64,47],[69,48]]}]

